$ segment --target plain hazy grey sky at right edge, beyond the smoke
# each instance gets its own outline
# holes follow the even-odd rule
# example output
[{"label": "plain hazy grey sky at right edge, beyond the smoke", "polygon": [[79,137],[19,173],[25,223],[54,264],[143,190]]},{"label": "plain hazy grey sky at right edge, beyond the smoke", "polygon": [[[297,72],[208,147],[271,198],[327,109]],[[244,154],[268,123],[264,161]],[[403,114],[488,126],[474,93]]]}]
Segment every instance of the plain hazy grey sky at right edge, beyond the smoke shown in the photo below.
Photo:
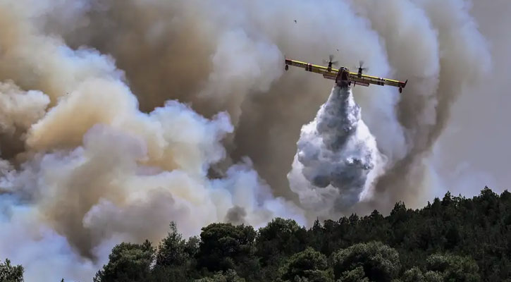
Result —
[{"label": "plain hazy grey sky at right edge, beyond the smoke", "polygon": [[474,3],[472,14],[491,45],[493,71],[484,85],[455,103],[432,157],[445,188],[455,195],[472,197],[485,185],[495,192],[511,188],[510,11],[506,0]]}]

